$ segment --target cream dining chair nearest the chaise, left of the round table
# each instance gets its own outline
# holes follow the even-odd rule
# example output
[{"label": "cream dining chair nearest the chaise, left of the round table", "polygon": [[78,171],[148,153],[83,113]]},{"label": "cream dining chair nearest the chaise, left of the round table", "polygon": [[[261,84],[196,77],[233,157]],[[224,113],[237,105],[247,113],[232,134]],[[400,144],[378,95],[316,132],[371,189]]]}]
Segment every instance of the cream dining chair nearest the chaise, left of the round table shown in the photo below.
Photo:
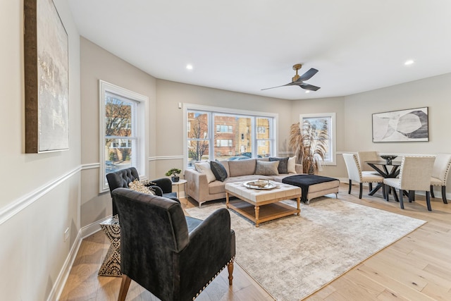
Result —
[{"label": "cream dining chair nearest the chaise, left of the round table", "polygon": [[[347,192],[348,194],[351,193],[352,181],[359,183],[359,199],[362,199],[363,183],[383,183],[382,176],[378,176],[369,172],[362,172],[357,154],[343,154],[343,159],[345,159],[347,176],[350,180],[350,189]],[[382,190],[383,195],[385,195],[385,189],[383,186]]]}]

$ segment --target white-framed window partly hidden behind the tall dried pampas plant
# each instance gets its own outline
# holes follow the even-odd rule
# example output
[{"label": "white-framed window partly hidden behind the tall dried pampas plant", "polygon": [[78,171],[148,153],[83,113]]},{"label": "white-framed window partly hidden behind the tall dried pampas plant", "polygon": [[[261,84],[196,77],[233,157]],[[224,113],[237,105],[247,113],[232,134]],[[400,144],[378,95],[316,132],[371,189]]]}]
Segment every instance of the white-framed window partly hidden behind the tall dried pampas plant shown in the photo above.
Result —
[{"label": "white-framed window partly hidden behind the tall dried pampas plant", "polygon": [[303,124],[304,121],[308,121],[314,133],[319,133],[321,128],[325,127],[328,133],[328,142],[326,157],[324,158],[324,164],[335,165],[336,164],[336,140],[335,140],[335,113],[315,113],[315,114],[303,114],[299,115],[299,124]]}]

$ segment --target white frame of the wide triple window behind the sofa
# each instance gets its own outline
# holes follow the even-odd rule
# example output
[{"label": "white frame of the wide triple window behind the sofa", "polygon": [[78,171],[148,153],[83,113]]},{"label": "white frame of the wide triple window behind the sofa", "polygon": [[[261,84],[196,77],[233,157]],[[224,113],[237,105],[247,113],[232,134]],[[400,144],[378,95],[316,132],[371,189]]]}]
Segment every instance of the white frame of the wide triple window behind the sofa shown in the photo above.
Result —
[{"label": "white frame of the wide triple window behind the sofa", "polygon": [[[225,114],[232,114],[232,115],[242,115],[242,116],[257,116],[257,117],[268,117],[273,118],[273,126],[271,128],[271,133],[269,137],[272,137],[270,140],[273,142],[271,143],[271,155],[276,156],[276,150],[278,149],[278,113],[268,113],[268,112],[260,112],[260,111],[247,111],[247,110],[240,110],[240,109],[228,109],[228,108],[221,108],[217,106],[204,106],[202,104],[183,104],[183,166],[185,168],[193,168],[188,166],[188,137],[187,137],[187,115],[188,111],[203,111],[203,112],[211,112],[211,113],[225,113]],[[213,114],[210,115],[210,118],[212,119]],[[216,133],[216,128],[214,128],[214,121],[209,121],[209,127],[213,130],[209,130],[209,135],[214,136],[214,133]],[[252,128],[254,130],[252,131],[252,140],[256,143],[253,143],[252,147],[252,153],[257,153],[257,138],[256,138],[256,131],[257,127],[254,123],[252,123]],[[210,140],[213,139],[213,137],[209,137]],[[214,143],[209,143],[209,158],[214,158]]]}]

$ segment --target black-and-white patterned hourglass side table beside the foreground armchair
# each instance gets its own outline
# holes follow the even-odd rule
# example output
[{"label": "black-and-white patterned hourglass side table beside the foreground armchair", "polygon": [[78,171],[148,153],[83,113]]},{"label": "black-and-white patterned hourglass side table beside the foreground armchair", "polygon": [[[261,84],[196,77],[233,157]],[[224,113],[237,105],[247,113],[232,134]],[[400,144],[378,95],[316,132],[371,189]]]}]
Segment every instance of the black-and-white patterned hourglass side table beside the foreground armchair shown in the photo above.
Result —
[{"label": "black-and-white patterned hourglass side table beside the foreground armchair", "polygon": [[118,216],[100,223],[101,229],[110,240],[111,245],[106,253],[103,264],[99,269],[99,276],[122,276],[121,273],[121,226]]}]

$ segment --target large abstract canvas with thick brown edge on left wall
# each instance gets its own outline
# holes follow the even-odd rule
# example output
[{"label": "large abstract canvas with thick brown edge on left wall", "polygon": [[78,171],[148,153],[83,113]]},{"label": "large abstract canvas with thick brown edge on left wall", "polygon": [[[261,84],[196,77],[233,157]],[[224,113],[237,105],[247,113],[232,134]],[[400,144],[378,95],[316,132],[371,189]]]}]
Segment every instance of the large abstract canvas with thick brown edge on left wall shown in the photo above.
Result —
[{"label": "large abstract canvas with thick brown edge on left wall", "polygon": [[52,0],[24,0],[25,153],[69,149],[68,34]]}]

